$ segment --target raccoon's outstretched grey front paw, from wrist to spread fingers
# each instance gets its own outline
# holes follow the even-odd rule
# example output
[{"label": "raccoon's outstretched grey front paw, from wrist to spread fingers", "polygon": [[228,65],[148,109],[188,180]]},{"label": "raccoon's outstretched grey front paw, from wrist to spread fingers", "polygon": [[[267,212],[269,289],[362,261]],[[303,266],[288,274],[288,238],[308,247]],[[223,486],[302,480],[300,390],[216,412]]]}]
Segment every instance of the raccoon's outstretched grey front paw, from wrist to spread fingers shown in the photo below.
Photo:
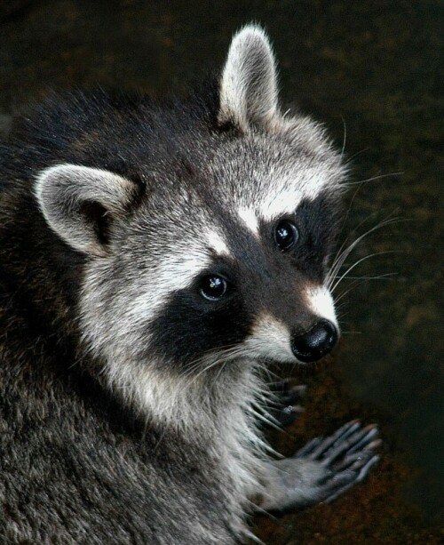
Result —
[{"label": "raccoon's outstretched grey front paw, from wrist to spread fingers", "polygon": [[294,456],[269,464],[262,509],[285,510],[333,501],[360,483],[377,463],[375,425],[351,421],[329,437],[316,437]]}]

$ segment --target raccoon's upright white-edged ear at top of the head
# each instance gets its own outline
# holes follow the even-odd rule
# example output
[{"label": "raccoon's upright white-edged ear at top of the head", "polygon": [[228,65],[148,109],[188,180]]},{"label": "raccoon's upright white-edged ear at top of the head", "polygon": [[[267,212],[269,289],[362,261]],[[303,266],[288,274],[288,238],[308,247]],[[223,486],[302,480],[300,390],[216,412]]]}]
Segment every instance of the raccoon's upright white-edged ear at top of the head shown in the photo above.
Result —
[{"label": "raccoon's upright white-edged ear at top of the head", "polygon": [[219,124],[234,124],[242,132],[251,124],[272,124],[278,115],[274,54],[262,28],[248,25],[234,36],[219,97]]}]

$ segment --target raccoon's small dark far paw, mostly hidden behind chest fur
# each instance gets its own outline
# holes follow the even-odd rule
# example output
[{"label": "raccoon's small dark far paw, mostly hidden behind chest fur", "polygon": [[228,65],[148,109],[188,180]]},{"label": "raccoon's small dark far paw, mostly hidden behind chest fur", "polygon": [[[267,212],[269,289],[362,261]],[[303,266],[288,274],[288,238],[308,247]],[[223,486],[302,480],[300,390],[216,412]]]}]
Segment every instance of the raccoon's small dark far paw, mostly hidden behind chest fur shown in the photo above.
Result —
[{"label": "raccoon's small dark far paw, mostly hidden behind chest fur", "polygon": [[281,381],[271,384],[270,389],[274,393],[274,401],[268,407],[268,413],[283,428],[289,426],[296,420],[297,414],[304,412],[304,407],[299,405],[299,402],[305,394],[306,386]]}]

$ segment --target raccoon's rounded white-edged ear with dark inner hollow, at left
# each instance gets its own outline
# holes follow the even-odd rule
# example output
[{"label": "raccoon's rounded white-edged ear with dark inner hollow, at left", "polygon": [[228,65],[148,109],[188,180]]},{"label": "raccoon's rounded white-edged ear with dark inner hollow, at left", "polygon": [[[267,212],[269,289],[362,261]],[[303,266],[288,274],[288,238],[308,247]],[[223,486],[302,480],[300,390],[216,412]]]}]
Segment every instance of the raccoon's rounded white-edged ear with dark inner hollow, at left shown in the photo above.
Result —
[{"label": "raccoon's rounded white-edged ear with dark inner hollow, at left", "polygon": [[75,164],[51,166],[36,179],[37,202],[48,225],[75,250],[97,256],[108,254],[109,230],[137,195],[134,182]]}]

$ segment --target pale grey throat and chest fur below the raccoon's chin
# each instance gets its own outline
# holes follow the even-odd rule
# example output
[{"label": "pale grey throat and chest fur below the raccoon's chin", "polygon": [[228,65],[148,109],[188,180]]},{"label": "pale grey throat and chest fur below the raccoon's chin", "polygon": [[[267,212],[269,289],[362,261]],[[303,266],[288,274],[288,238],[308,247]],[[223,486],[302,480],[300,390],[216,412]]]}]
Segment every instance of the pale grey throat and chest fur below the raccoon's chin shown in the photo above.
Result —
[{"label": "pale grey throat and chest fur below the raccoon's chin", "polygon": [[226,501],[241,513],[251,509],[250,498],[261,489],[266,443],[258,429],[258,405],[267,394],[254,362],[233,361],[226,367],[194,381],[134,362],[110,365],[104,375],[148,428],[155,426],[162,437],[169,430],[173,437],[180,434],[210,456],[220,482],[231,482],[234,493]]}]

